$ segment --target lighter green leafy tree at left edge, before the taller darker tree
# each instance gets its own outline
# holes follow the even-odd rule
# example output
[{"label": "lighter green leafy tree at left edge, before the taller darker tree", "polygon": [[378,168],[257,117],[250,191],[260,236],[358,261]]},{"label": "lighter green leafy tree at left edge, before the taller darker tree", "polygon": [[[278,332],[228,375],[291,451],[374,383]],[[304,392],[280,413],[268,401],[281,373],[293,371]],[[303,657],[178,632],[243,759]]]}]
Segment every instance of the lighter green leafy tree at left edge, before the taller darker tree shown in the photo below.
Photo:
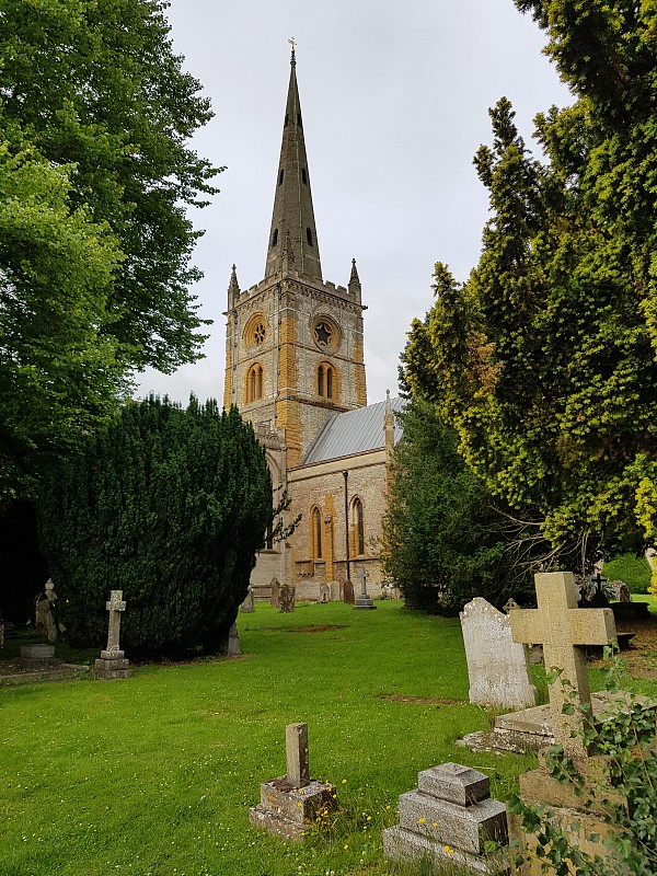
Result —
[{"label": "lighter green leafy tree at left edge, before the taller darker tree", "polygon": [[0,507],[30,492],[39,457],[110,417],[127,381],[103,333],[120,262],[66,168],[0,145]]}]

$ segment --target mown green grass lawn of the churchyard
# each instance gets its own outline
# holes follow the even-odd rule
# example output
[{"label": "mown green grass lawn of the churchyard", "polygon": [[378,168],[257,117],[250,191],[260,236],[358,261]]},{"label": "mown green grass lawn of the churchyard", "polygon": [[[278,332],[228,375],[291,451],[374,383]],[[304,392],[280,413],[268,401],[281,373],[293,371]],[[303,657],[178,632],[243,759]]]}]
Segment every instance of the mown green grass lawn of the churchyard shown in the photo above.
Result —
[{"label": "mown green grass lawn of the churchyard", "polygon": [[[258,603],[239,618],[242,658],[0,690],[0,875],[383,876],[381,830],[418,770],[470,764],[503,798],[535,761],[454,745],[488,722],[459,621],[377,606]],[[286,844],[247,809],[285,773],[295,721],[342,814]]]}]

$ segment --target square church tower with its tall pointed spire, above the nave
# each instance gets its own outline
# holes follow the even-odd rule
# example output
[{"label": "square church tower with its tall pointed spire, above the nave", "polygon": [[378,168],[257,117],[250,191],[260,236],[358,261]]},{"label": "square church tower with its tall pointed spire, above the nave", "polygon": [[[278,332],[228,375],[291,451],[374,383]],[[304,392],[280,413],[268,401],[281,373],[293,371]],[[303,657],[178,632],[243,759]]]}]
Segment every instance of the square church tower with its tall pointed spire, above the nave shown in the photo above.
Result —
[{"label": "square church tower with its tall pointed spire, above the nave", "polygon": [[233,265],[223,393],[279,436],[286,468],[333,414],[367,404],[360,280],[355,261],[346,287],[322,278],[293,48],[290,64],[265,276],[241,291]]}]

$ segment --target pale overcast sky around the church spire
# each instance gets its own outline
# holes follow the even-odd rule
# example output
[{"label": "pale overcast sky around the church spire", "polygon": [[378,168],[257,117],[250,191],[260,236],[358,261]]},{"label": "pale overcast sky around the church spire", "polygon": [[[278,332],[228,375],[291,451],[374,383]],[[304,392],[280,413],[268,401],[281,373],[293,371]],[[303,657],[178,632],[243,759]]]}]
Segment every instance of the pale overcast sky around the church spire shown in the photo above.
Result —
[{"label": "pale overcast sky around the church spire", "polygon": [[324,279],[346,286],[356,258],[368,402],[396,394],[434,264],[465,279],[477,262],[487,199],[472,158],[491,142],[488,107],[507,96],[532,145],[535,113],[570,102],[542,32],[511,0],[172,0],[168,14],[216,114],[194,146],[228,170],[193,217],[206,230],[194,289],[214,321],[206,358],[171,377],[148,371],[138,394],[222,397],[231,266],[242,289],[264,274],[290,37]]}]

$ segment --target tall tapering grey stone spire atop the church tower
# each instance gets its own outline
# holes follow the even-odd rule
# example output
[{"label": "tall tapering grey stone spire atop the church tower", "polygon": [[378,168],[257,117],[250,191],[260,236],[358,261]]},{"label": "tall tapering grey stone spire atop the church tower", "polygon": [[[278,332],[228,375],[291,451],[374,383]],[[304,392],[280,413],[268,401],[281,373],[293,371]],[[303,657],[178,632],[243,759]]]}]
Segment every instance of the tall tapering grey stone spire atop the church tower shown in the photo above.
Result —
[{"label": "tall tapering grey stone spire atop the church tower", "polygon": [[291,264],[300,274],[322,279],[293,42],[265,277],[281,274]]}]

